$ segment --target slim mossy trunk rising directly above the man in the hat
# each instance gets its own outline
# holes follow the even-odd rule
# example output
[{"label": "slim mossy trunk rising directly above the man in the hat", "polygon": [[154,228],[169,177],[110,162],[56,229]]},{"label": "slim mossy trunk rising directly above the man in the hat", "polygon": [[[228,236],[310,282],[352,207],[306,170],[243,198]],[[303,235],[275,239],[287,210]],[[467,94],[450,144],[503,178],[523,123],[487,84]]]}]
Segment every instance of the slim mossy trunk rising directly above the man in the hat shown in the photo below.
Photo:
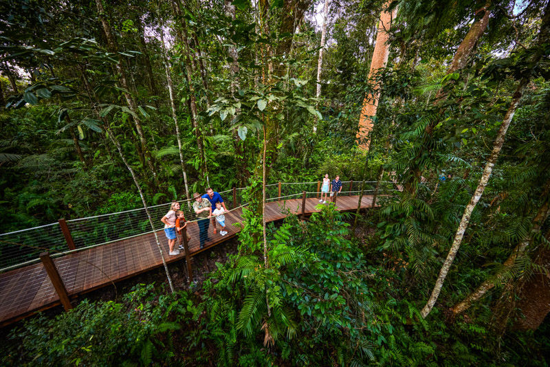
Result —
[{"label": "slim mossy trunk rising directly above the man in the hat", "polygon": [[184,56],[186,60],[184,61],[185,75],[187,83],[189,85],[189,109],[191,112],[191,123],[193,130],[195,131],[195,137],[197,138],[197,148],[199,148],[199,157],[200,157],[200,173],[201,180],[203,182],[208,181],[208,168],[206,167],[206,153],[204,152],[204,140],[201,126],[198,124],[198,109],[197,109],[197,98],[195,97],[195,87],[193,86],[192,80],[192,63],[191,63],[191,54],[187,34],[187,26],[183,18],[183,12],[181,11],[181,6],[179,0],[172,1],[173,9],[181,21],[181,29],[177,29],[177,36],[179,41],[184,44]]}]

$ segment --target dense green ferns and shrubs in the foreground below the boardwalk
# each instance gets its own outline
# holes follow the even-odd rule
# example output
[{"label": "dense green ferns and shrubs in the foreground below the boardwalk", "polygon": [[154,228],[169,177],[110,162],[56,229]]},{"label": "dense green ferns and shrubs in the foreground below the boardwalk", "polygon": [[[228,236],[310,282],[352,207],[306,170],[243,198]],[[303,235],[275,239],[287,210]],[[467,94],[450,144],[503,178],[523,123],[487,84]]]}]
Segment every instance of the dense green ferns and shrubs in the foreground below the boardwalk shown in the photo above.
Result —
[{"label": "dense green ferns and shrubs in the foreground below the boardwalk", "polygon": [[443,309],[423,320],[410,265],[352,238],[331,206],[309,221],[271,225],[268,238],[268,269],[254,254],[235,255],[199,291],[136,285],[120,302],[83,301],[23,321],[2,346],[2,364],[547,365],[548,322],[535,333],[501,333],[487,308],[475,320]]}]

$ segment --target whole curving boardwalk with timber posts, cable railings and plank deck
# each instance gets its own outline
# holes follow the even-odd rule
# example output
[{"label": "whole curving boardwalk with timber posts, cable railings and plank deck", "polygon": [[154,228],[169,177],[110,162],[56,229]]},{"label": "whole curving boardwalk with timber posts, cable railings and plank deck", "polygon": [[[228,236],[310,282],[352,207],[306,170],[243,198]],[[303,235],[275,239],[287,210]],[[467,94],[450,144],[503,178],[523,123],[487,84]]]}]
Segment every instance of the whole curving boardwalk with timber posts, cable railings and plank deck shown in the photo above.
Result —
[{"label": "whole curving boardwalk with timber posts, cable railings and plank deck", "polygon": [[[355,211],[358,206],[359,181],[342,181],[337,208]],[[319,181],[267,185],[266,221],[283,219],[287,212],[304,217],[316,211],[319,205]],[[376,182],[364,186],[362,208],[372,206]],[[398,191],[393,181],[382,181],[378,195]],[[344,191],[346,188],[349,190]],[[229,212],[225,214],[226,236],[213,235],[205,249],[238,234],[243,207],[247,205],[244,188],[220,192]],[[370,195],[369,195],[370,194]],[[180,201],[184,203],[185,201]],[[328,202],[327,202],[328,203]],[[167,241],[162,232],[162,216],[170,210],[170,203],[148,207],[155,232],[165,247],[165,259],[180,261],[186,269],[188,282],[192,281],[191,257],[199,249],[198,226],[190,205],[181,205],[190,233],[188,243],[184,233],[184,250],[179,256],[168,256]],[[212,229],[210,229],[212,232]],[[45,254],[47,252],[47,254]],[[129,278],[162,265],[155,237],[144,208],[123,212],[99,214],[81,219],[60,219],[58,223],[0,234],[0,322],[12,322],[37,309],[63,302],[70,307],[67,297],[108,285],[115,280]],[[6,321],[10,320],[10,321]]]}]

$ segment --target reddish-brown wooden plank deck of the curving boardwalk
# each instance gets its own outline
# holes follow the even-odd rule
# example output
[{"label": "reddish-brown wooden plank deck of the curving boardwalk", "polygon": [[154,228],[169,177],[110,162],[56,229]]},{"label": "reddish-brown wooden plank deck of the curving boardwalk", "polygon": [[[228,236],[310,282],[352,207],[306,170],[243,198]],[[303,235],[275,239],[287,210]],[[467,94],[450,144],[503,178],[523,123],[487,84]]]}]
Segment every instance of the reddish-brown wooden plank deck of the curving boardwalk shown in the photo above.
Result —
[{"label": "reddish-brown wooden plank deck of the curving boardwalk", "polygon": [[[364,195],[362,208],[370,208],[372,195]],[[338,210],[355,211],[359,197],[338,197]],[[318,199],[306,199],[305,214],[316,212]],[[302,199],[272,201],[266,204],[266,220],[276,221],[285,218],[286,210],[300,214]],[[204,250],[236,236],[240,231],[234,223],[242,223],[242,209],[237,208],[225,214],[225,225],[228,234],[221,236],[219,230],[213,234],[212,225],[208,230],[211,238],[204,247],[199,248],[199,228],[196,222],[189,223],[188,233],[190,256],[195,256]],[[218,226],[219,228],[219,226]],[[184,252],[178,256],[168,256],[168,241],[164,231],[157,231],[163,247],[167,263],[181,261],[185,258]],[[104,287],[144,271],[162,266],[162,258],[153,233],[142,234],[120,241],[84,249],[54,259],[54,263],[65,283],[69,297],[76,296]],[[32,315],[33,313],[54,307],[60,304],[59,297],[47,276],[43,263],[28,265],[19,269],[0,274],[0,326],[10,324]]]}]

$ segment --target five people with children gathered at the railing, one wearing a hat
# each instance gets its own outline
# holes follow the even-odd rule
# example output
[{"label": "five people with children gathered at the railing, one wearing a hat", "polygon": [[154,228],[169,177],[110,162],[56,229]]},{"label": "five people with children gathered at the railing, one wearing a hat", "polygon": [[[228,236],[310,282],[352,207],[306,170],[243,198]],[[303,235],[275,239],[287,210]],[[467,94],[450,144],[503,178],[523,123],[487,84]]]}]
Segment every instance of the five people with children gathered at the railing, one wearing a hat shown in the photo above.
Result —
[{"label": "five people with children gathered at the railing, one wearing a hat", "polygon": [[[212,219],[212,225],[214,226],[214,234],[217,234],[216,222],[220,226],[219,234],[225,236],[228,232],[225,230],[225,203],[219,192],[215,192],[212,188],[206,190],[206,194],[199,194],[195,192],[193,194],[193,200],[195,201],[192,205],[195,214],[197,214],[197,224],[199,225],[199,241],[201,249],[204,247],[206,241],[210,241],[208,238],[208,229],[210,228],[210,221]],[[164,233],[166,238],[168,238],[168,247],[170,248],[170,255],[178,255],[179,250],[184,249],[183,243],[183,234],[181,230],[186,227],[187,223],[185,220],[184,212],[179,210],[180,205],[177,201],[174,201],[170,205],[170,210],[162,217],[161,221],[164,223]],[[214,208],[214,209],[212,209]],[[176,238],[179,237],[179,248],[175,249]],[[190,240],[189,234],[187,234],[187,240]]]}]

